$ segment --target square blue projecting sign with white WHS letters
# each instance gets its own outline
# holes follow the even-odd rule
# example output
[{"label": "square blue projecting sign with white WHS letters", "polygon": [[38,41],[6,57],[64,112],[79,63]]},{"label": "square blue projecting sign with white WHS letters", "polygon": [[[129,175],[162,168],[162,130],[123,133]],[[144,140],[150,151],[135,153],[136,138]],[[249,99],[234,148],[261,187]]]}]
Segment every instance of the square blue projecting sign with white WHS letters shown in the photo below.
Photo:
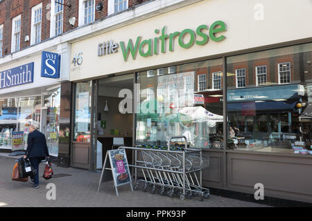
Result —
[{"label": "square blue projecting sign with white WHS letters", "polygon": [[60,78],[60,55],[53,52],[42,52],[41,77]]}]

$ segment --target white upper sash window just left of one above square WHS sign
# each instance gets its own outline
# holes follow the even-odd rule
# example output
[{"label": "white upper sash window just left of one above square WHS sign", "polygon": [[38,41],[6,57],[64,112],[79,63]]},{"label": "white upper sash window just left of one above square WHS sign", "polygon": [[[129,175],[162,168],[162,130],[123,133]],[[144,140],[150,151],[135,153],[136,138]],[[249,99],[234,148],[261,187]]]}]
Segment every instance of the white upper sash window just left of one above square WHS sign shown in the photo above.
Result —
[{"label": "white upper sash window just left of one above square WHS sign", "polygon": [[31,44],[41,41],[42,3],[31,9]]}]

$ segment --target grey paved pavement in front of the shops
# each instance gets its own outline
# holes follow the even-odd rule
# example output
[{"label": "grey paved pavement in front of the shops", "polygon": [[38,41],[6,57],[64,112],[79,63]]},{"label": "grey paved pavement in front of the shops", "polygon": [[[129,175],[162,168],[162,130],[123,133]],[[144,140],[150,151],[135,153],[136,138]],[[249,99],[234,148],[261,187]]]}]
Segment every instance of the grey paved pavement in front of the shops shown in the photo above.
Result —
[{"label": "grey paved pavement in front of the shops", "polygon": [[[20,157],[20,156],[19,156]],[[97,192],[101,173],[64,168],[52,165],[54,177],[44,180],[42,177],[44,163],[40,164],[40,188],[31,188],[31,182],[11,180],[12,169],[17,157],[0,154],[0,207],[263,207],[266,205],[245,202],[218,195],[210,195],[203,201],[193,198],[180,200],[179,197],[169,198],[159,192],[151,194],[142,191],[131,191],[130,185],[119,186],[116,196],[113,182],[104,182]],[[66,176],[62,176],[66,175]],[[51,183],[55,184],[55,200],[51,199]],[[49,184],[49,185],[48,185]],[[48,200],[48,198],[50,200]]]}]

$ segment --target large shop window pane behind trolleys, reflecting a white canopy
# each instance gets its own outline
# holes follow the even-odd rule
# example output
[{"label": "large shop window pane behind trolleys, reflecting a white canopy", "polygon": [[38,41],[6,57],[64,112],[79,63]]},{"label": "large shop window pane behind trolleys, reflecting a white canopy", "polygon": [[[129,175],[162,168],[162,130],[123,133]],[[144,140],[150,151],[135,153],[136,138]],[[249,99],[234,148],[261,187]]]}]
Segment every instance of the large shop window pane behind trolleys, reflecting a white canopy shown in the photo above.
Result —
[{"label": "large shop window pane behind trolleys, reflecting a white canopy", "polygon": [[[191,148],[223,148],[222,90],[196,93],[196,79],[203,75],[205,81],[218,68],[222,59],[177,66],[174,74],[138,73],[137,144],[167,146],[169,137],[184,135]],[[183,139],[172,141],[184,145]]]}]

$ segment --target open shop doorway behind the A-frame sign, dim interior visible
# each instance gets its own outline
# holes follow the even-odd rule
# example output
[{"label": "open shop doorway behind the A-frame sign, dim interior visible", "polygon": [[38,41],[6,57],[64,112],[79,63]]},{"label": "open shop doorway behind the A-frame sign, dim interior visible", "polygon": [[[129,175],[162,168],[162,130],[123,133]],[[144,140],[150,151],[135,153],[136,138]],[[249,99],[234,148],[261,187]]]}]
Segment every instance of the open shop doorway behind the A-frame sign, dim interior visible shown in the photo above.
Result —
[{"label": "open shop doorway behind the A-frame sign, dim interior visible", "polygon": [[[132,146],[133,114],[123,113],[125,101],[119,93],[133,94],[134,75],[107,77],[98,80],[96,125],[94,130],[94,170],[101,170],[106,152],[119,146]],[[132,102],[132,99],[127,100]],[[133,103],[132,103],[133,104]],[[131,159],[129,155],[129,160]]]}]

